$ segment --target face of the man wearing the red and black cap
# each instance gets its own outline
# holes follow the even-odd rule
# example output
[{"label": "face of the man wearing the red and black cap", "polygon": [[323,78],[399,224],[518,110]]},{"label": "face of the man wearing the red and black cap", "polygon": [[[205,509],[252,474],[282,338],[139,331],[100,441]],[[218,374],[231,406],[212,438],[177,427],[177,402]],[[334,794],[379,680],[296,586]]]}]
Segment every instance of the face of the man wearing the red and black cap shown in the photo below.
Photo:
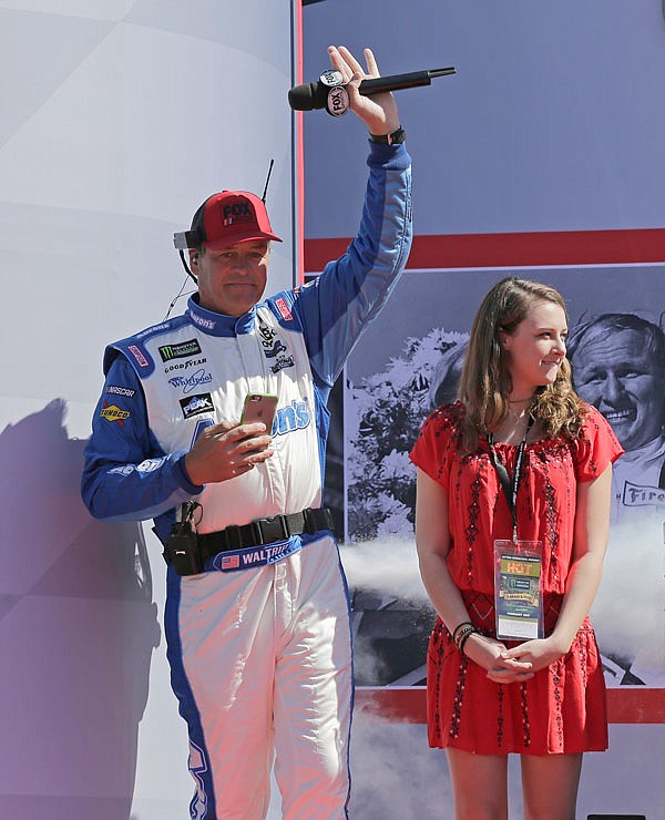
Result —
[{"label": "face of the man wearing the red and black cap", "polygon": [[250,310],[266,287],[269,245],[249,239],[225,250],[190,252],[192,273],[198,279],[200,304],[226,316]]}]

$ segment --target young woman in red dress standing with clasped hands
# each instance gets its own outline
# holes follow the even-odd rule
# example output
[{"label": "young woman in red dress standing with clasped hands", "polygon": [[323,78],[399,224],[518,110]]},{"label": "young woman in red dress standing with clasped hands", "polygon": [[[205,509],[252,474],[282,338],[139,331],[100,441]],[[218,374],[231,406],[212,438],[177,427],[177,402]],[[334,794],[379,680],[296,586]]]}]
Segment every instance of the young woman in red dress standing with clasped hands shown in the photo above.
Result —
[{"label": "young woman in red dress standing with clasped hands", "polygon": [[[524,817],[574,820],[582,754],[607,747],[587,613],[623,451],[572,389],[566,334],[556,290],[494,285],[471,329],[460,400],[434,410],[411,452],[420,571],[439,615],[429,742],[447,749],[458,820],[508,818],[510,752],[521,755]],[[497,541],[538,544],[540,606],[515,627],[521,639],[497,637]]]}]

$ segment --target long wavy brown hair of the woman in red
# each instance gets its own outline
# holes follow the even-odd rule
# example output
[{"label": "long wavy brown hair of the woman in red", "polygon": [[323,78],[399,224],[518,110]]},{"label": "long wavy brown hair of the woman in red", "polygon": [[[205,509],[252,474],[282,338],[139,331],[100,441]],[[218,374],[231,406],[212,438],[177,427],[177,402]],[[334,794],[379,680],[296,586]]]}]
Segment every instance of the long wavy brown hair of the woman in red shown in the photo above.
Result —
[{"label": "long wavy brown hair of the woman in red", "polygon": [[[509,412],[512,383],[499,332],[512,334],[538,301],[553,303],[566,312],[557,290],[515,276],[497,283],[478,309],[459,388],[459,397],[467,408],[460,443],[467,453],[478,449],[479,433],[497,430]],[[535,390],[530,412],[545,435],[577,437],[585,410],[573,390],[567,359],[562,361],[552,385]]]}]

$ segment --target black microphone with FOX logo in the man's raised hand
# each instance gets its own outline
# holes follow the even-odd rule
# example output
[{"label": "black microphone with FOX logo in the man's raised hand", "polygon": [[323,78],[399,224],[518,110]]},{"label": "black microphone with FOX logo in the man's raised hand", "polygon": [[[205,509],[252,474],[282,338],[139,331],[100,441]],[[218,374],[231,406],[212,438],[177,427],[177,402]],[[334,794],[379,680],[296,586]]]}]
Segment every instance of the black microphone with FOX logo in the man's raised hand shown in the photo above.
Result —
[{"label": "black microphone with FOX logo in the man's raised hand", "polygon": [[[362,80],[358,91],[364,96],[382,94],[387,91],[400,91],[401,89],[415,89],[419,85],[430,85],[436,76],[454,74],[453,66],[447,69],[428,69],[426,71],[411,71],[408,74],[392,74],[391,76],[377,76],[371,80]],[[332,116],[340,116],[349,107],[349,95],[344,84],[340,71],[330,69],[325,71],[316,83],[304,83],[295,85],[288,92],[288,104],[294,111],[311,111],[313,109],[326,109]]]}]

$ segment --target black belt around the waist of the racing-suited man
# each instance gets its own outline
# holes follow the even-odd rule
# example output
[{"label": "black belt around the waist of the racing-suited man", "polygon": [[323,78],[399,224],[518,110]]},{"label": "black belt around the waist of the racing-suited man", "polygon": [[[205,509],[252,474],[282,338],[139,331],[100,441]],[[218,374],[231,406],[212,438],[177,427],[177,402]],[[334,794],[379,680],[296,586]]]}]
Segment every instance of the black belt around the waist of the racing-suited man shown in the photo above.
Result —
[{"label": "black belt around the waist of the racing-suited man", "polygon": [[243,550],[247,546],[263,546],[275,541],[286,541],[291,535],[308,533],[314,535],[319,530],[332,530],[332,515],[328,508],[308,508],[290,515],[273,515],[269,519],[255,519],[248,524],[231,524],[224,530],[198,534],[198,547],[203,561],[221,552]]}]

